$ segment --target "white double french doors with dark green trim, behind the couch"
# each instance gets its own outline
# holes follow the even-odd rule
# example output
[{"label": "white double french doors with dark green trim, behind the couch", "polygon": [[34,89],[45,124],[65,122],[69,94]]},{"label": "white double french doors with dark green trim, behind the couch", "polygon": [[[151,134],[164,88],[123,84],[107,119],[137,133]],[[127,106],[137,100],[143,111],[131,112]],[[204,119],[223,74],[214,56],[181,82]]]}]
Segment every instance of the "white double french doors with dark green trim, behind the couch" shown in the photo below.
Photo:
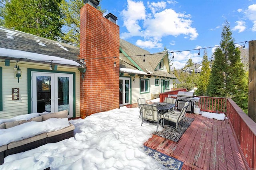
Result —
[{"label": "white double french doors with dark green trim, behind the couch", "polygon": [[32,72],[32,113],[68,110],[73,116],[73,75]]}]

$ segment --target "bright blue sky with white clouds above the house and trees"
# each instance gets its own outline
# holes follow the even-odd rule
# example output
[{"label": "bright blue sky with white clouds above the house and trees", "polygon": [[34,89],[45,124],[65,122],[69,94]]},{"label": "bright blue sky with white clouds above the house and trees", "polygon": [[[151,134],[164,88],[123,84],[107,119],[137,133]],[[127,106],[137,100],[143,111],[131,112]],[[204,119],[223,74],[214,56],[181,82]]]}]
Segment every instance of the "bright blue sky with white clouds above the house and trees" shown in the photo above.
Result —
[{"label": "bright blue sky with white clouds above the house and trees", "polygon": [[[118,18],[120,38],[150,53],[164,47],[183,51],[174,53],[176,69],[190,58],[200,63],[202,48],[218,46],[225,21],[235,43],[247,41],[248,48],[248,41],[256,40],[256,0],[101,0],[100,6]],[[200,55],[192,49],[201,49]],[[213,51],[207,49],[208,58]]]}]

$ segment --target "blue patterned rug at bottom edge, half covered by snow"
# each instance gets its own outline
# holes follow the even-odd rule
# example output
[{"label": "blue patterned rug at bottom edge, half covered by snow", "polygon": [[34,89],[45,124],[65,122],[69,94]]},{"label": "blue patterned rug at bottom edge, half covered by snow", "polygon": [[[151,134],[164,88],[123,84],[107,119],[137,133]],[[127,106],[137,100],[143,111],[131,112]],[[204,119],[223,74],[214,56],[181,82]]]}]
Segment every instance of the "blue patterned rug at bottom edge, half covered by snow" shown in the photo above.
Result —
[{"label": "blue patterned rug at bottom edge, half covered by snow", "polygon": [[163,166],[166,166],[168,170],[181,170],[183,162],[181,162],[180,160],[172,158],[166,154],[162,154],[146,146],[144,146],[144,150],[149,156],[153,157],[157,162],[159,162]]}]

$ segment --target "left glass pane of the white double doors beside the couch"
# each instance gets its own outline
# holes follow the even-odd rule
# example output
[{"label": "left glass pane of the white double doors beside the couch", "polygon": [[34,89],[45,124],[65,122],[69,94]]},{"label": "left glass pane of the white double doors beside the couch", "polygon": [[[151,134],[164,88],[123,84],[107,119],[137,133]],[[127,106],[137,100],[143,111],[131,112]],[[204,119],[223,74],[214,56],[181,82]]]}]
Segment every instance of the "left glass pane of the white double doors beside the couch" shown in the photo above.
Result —
[{"label": "left glass pane of the white double doors beside the couch", "polygon": [[51,77],[36,76],[37,112],[51,112]]}]

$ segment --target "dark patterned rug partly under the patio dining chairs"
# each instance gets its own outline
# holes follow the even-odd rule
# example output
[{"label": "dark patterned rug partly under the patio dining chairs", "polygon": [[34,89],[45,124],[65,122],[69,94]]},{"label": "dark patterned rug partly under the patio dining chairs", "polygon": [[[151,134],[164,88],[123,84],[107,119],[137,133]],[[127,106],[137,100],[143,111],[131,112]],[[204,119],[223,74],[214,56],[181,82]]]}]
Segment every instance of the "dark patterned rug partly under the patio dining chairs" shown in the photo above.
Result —
[{"label": "dark patterned rug partly under the patio dining chairs", "polygon": [[[174,127],[166,126],[164,129],[160,132],[154,132],[153,134],[158,135],[160,137],[163,137],[165,139],[169,139],[174,142],[178,142],[180,140],[180,137],[182,137],[183,133],[188,129],[192,121],[194,121],[194,118],[185,117],[186,121],[183,119],[180,121],[179,124],[179,130],[176,130],[175,123],[172,125]],[[169,121],[168,121],[169,122]],[[172,123],[172,122],[170,122]],[[166,125],[167,122],[164,122],[164,125]]]}]

